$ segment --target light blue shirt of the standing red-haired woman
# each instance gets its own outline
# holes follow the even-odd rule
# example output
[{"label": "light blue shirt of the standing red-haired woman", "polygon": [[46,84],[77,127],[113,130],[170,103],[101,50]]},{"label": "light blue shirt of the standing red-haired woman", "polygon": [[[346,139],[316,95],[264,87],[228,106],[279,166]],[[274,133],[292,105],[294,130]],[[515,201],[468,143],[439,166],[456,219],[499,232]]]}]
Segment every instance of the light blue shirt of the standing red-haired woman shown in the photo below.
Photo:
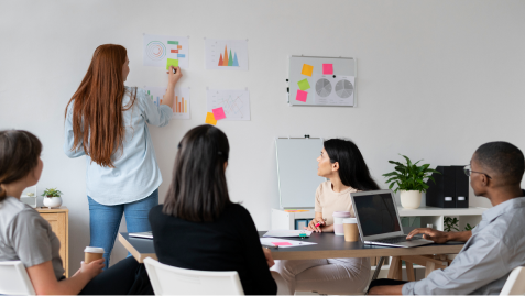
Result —
[{"label": "light blue shirt of the standing red-haired woman", "polygon": [[[130,102],[130,87],[125,87],[122,106]],[[69,157],[86,155],[81,145],[73,147],[73,103],[69,105],[65,122],[64,152]],[[112,206],[133,202],[150,196],[162,183],[155,151],[147,124],[164,127],[172,118],[166,105],[156,106],[143,89],[138,89],[133,107],[123,111],[125,135],[123,147],[111,155],[114,168],[102,167],[86,155],[87,195],[97,202]]]}]

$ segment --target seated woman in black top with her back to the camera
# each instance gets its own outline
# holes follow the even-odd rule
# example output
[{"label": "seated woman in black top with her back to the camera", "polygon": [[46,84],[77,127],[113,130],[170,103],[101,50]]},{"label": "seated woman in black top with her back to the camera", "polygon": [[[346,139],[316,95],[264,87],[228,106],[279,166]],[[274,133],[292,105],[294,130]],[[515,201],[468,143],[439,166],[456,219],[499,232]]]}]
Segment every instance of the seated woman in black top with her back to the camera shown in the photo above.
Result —
[{"label": "seated woman in black top with her back to the camera", "polygon": [[276,295],[270,252],[248,210],[228,195],[229,152],[228,138],[212,125],[183,138],[164,205],[150,211],[155,253],[176,267],[237,271],[245,295]]}]

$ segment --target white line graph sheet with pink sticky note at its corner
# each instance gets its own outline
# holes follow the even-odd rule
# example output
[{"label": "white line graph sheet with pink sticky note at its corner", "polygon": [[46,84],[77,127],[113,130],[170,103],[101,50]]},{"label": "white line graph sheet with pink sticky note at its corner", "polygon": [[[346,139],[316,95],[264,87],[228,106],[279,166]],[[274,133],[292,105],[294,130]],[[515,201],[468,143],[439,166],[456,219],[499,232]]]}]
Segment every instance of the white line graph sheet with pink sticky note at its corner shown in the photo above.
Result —
[{"label": "white line graph sheet with pink sticky note at its corner", "polygon": [[221,120],[250,120],[250,92],[248,90],[208,89],[206,99],[207,112],[222,107],[226,118]]}]

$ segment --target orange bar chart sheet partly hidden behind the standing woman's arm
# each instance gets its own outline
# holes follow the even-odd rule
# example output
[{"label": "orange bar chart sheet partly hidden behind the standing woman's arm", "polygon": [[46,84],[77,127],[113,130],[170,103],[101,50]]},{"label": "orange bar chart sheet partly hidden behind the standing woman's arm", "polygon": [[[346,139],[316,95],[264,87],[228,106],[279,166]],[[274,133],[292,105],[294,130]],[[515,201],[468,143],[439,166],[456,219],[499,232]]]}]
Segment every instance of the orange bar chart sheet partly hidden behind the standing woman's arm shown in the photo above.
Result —
[{"label": "orange bar chart sheet partly hidden behind the standing woman's arm", "polygon": [[[165,87],[145,86],[144,90],[156,106],[162,103],[164,94],[166,94]],[[189,87],[176,87],[172,119],[189,119]]]}]

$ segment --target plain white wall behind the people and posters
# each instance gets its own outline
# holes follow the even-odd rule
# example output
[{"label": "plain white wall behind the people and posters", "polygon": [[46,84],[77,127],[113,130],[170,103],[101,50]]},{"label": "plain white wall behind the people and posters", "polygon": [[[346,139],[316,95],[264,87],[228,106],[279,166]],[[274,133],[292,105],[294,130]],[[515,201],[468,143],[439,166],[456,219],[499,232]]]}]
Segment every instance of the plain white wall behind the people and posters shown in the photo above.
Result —
[{"label": "plain white wall behind the people and posters", "polygon": [[[373,176],[397,153],[433,165],[467,164],[493,140],[525,150],[524,1],[2,1],[0,129],[25,129],[44,144],[39,184],[58,187],[69,207],[72,271],[89,243],[85,160],[62,150],[64,108],[94,50],[128,48],[128,85],[164,86],[161,68],[142,66],[142,33],[189,35],[192,120],[151,128],[169,183],[176,144],[204,123],[206,87],[250,90],[249,122],[219,122],[229,136],[231,197],[259,229],[277,206],[275,136],[356,141]],[[249,72],[204,69],[204,37],[249,39]],[[287,55],[358,58],[359,108],[288,107]],[[311,172],[315,174],[316,172]],[[314,196],[314,193],[313,193]],[[473,200],[473,205],[488,205]],[[124,228],[122,228],[123,230]],[[125,252],[116,243],[121,259]],[[114,262],[114,261],[113,261]]]}]

